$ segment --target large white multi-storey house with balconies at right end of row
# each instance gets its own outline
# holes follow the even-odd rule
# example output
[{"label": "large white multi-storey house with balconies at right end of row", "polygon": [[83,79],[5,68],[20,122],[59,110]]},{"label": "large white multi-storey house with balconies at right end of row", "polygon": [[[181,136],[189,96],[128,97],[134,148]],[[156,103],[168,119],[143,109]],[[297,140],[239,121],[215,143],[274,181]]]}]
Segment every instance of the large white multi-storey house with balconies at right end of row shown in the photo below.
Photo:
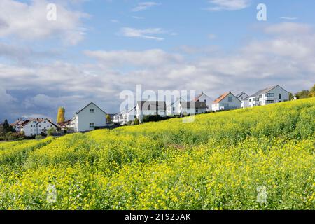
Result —
[{"label": "large white multi-storey house with balconies at right end of row", "polygon": [[244,99],[241,107],[246,108],[286,102],[289,100],[289,94],[288,91],[284,90],[279,85],[267,87]]}]

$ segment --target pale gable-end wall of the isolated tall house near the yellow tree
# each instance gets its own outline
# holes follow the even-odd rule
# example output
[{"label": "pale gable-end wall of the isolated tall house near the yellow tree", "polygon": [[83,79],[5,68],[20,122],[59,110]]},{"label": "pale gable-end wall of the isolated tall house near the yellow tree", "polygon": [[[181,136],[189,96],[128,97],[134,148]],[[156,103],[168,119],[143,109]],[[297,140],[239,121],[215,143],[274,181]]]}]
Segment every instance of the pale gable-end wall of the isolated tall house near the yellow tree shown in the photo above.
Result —
[{"label": "pale gable-end wall of the isolated tall house near the yellow tree", "polygon": [[[90,113],[90,109],[94,109],[94,113]],[[80,111],[80,113],[78,113],[76,116],[77,132],[91,131],[94,130],[94,127],[106,126],[106,113],[104,113],[104,111],[100,110],[94,104],[90,104],[89,106],[85,107],[85,109]],[[90,127],[90,123],[94,123],[94,127]]]}]

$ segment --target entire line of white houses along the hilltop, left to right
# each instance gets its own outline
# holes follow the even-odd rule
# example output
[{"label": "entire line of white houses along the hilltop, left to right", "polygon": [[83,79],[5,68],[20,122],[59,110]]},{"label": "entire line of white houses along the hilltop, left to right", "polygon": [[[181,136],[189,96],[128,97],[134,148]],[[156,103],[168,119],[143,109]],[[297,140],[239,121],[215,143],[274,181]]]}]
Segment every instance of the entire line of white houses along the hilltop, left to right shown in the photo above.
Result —
[{"label": "entire line of white houses along the hilltop, left to right", "polygon": [[[164,101],[139,101],[136,106],[127,111],[120,111],[113,115],[113,123],[127,125],[136,118],[141,121],[144,116],[159,115],[186,116],[206,113],[209,111],[227,111],[232,109],[263,106],[289,100],[289,92],[279,85],[267,87],[263,90],[248,95],[245,92],[233,94],[226,92],[214,101],[204,92],[190,102],[179,98],[167,105]],[[106,120],[107,113],[99,106],[91,102],[75,113],[71,120],[54,124],[48,118],[34,118],[29,120],[18,119],[11,126],[17,132],[24,132],[26,136],[47,134],[49,129],[67,130],[68,132],[87,132],[96,128],[109,125]]]}]

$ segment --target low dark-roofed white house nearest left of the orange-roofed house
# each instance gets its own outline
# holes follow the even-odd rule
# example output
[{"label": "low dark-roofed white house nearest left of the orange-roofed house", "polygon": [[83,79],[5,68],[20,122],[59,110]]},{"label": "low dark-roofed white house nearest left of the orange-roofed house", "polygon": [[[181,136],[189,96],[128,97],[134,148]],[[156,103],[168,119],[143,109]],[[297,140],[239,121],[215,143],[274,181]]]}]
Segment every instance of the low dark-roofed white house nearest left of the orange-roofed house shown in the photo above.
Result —
[{"label": "low dark-roofed white house nearest left of the orange-roofed house", "polygon": [[179,102],[177,113],[181,115],[194,115],[199,113],[206,113],[208,106],[206,102]]}]

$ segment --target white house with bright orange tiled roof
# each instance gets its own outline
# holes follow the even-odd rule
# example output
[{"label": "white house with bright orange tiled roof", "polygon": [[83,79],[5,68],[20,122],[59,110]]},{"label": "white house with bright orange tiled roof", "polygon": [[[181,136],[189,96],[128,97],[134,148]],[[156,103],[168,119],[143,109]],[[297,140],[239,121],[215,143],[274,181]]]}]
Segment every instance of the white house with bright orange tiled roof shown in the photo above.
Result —
[{"label": "white house with bright orange tiled roof", "polygon": [[232,92],[225,92],[212,104],[212,111],[228,111],[241,108],[241,101]]}]

